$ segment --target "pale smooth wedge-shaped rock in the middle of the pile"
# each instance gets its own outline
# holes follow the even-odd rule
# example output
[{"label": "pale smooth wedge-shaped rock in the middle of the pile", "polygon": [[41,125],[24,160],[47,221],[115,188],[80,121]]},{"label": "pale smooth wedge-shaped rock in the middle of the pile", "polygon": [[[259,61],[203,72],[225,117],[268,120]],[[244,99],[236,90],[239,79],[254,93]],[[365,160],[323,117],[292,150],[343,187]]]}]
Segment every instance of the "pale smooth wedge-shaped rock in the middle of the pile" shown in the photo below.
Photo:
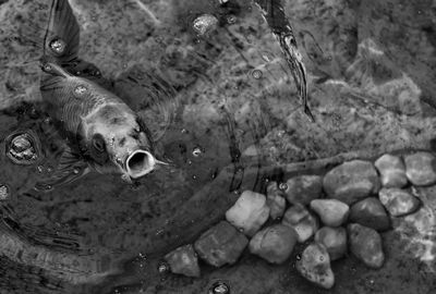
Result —
[{"label": "pale smooth wedge-shaped rock in the middle of the pile", "polygon": [[318,213],[322,222],[329,226],[339,226],[344,223],[350,212],[350,207],[337,199],[315,199],[311,208]]}]

